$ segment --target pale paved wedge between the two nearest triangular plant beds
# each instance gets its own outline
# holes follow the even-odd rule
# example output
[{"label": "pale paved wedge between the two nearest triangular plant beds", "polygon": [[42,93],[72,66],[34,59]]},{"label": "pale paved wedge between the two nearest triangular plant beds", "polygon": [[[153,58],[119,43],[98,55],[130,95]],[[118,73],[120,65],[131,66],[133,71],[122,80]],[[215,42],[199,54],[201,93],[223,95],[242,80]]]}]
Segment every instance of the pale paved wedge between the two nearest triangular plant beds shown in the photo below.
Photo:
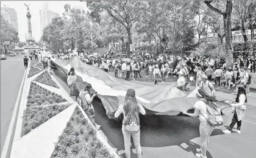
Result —
[{"label": "pale paved wedge between the two nearest triangular plant beds", "polygon": [[15,140],[12,146],[11,158],[45,158],[51,157],[58,137],[62,135],[77,104],[69,106],[58,115],[35,128],[20,140]]}]

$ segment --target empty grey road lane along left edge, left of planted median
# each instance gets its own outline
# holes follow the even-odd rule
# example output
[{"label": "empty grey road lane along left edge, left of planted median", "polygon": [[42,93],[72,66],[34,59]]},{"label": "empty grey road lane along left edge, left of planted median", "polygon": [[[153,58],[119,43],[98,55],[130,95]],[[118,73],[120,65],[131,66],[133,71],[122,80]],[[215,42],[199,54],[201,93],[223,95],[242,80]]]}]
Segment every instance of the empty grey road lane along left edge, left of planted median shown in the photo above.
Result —
[{"label": "empty grey road lane along left edge, left of planted median", "polygon": [[24,75],[24,55],[1,60],[1,151]]}]

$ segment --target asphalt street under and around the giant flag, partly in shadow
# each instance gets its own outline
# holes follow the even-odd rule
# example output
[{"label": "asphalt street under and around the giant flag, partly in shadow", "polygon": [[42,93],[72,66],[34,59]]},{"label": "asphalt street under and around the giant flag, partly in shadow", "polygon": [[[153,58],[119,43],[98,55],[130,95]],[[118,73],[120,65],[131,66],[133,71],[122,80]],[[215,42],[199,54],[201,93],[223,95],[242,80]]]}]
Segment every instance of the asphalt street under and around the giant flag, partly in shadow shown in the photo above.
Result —
[{"label": "asphalt street under and around the giant flag, partly in shadow", "polygon": [[[60,70],[54,70],[57,80],[69,91],[66,85],[66,75]],[[139,80],[146,81],[144,78]],[[168,78],[166,85],[173,83],[177,78]],[[152,83],[154,85],[154,83]],[[160,83],[162,84],[162,83]],[[157,85],[155,85],[157,86]],[[233,100],[235,89],[217,89],[219,100]],[[252,158],[256,154],[256,93],[251,92],[247,97],[247,109],[242,120],[241,134],[223,134],[229,126],[232,115],[224,115],[224,126],[216,128],[208,146],[207,157],[212,158]],[[108,142],[114,148],[118,148],[121,157],[124,154],[124,140],[121,131],[121,122],[108,119],[105,109],[99,99],[93,101],[96,122],[102,126],[102,131],[107,136]],[[196,157],[196,148],[200,148],[199,120],[197,118],[182,115],[147,115],[141,116],[141,148],[143,157],[169,158],[169,157]],[[236,125],[235,125],[236,127]],[[235,128],[234,127],[234,128]],[[132,158],[137,157],[132,143]]]}]

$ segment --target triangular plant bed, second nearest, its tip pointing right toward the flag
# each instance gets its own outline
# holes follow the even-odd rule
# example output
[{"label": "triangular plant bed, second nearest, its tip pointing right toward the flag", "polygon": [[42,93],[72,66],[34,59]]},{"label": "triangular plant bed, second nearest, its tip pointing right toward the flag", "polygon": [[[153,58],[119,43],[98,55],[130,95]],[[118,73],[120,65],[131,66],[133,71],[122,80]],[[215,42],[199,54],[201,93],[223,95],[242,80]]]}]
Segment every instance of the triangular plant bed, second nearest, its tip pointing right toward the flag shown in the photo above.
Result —
[{"label": "triangular plant bed, second nearest, its tip pointing right toward the flag", "polygon": [[21,137],[48,121],[55,115],[68,108],[67,105],[52,105],[47,107],[29,107],[24,111]]}]

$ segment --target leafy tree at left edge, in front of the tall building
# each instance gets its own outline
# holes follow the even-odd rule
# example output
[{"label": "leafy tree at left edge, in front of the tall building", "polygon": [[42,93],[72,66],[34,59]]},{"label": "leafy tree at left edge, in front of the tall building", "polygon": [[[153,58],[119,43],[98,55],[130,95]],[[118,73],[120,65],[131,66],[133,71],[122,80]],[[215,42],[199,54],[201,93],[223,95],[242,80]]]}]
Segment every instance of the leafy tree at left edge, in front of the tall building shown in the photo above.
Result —
[{"label": "leafy tree at left edge, in front of the tall building", "polygon": [[10,41],[10,43],[18,43],[20,41],[18,32],[7,22],[1,15],[1,46],[4,47],[5,53],[7,53],[6,45],[4,41]]}]

